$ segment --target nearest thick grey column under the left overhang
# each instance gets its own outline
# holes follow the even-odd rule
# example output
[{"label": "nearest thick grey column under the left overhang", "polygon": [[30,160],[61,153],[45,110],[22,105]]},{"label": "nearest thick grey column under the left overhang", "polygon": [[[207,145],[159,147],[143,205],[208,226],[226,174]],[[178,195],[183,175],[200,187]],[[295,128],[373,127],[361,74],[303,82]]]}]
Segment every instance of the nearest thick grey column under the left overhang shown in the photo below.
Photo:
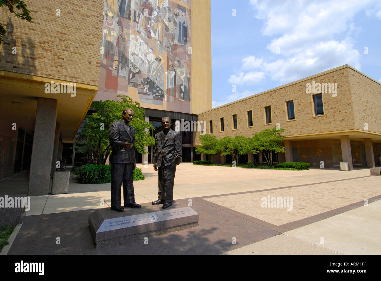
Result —
[{"label": "nearest thick grey column under the left overhang", "polygon": [[48,195],[56,133],[57,100],[38,98],[28,196]]}]

